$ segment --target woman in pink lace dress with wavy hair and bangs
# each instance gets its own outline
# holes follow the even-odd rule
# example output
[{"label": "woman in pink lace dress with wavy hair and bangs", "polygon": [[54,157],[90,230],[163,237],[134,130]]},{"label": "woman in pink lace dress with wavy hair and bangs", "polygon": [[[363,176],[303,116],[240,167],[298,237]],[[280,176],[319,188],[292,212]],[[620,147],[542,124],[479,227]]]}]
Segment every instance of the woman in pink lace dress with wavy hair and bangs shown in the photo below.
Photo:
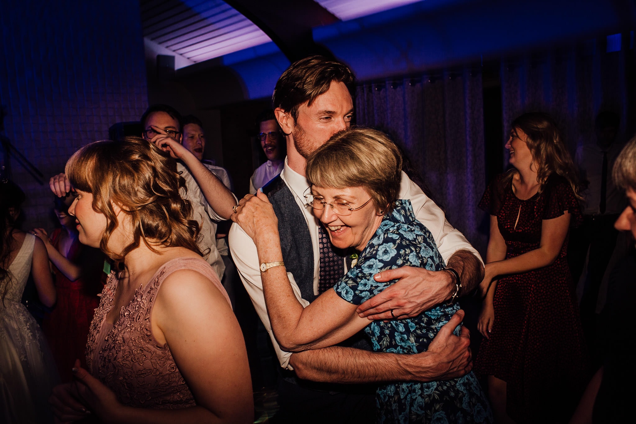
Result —
[{"label": "woman in pink lace dress with wavy hair and bangs", "polygon": [[[247,354],[230,300],[201,257],[198,224],[168,153],[137,137],[99,141],[66,165],[79,241],[111,272],[74,383],[52,397],[60,421],[247,423]],[[219,341],[223,341],[222,345]]]}]

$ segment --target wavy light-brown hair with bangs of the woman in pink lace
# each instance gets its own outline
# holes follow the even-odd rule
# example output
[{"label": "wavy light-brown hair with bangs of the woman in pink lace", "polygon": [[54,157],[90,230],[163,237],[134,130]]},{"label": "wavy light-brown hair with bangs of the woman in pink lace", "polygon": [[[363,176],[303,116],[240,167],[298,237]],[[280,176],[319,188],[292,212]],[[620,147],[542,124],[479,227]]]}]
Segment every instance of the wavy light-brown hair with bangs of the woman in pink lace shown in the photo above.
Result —
[{"label": "wavy light-brown hair with bangs of the woman in pink lace", "polygon": [[[201,254],[197,246],[199,226],[188,219],[192,206],[179,195],[186,189],[176,161],[151,142],[139,137],[120,141],[96,141],[81,147],[66,163],[73,187],[92,193],[93,210],[106,216],[100,249],[115,261],[139,247],[141,240],[154,246],[185,247]],[[108,240],[118,226],[113,203],[130,217],[132,241],[116,254]]]}]

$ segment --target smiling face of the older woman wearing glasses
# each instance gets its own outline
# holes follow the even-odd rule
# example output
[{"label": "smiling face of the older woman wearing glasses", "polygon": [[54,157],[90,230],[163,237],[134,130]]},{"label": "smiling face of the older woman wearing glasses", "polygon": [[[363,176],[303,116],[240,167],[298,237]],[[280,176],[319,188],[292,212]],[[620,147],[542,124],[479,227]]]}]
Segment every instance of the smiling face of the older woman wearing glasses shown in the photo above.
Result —
[{"label": "smiling face of the older woman wearing glasses", "polygon": [[[331,243],[338,249],[354,247],[363,250],[366,243],[382,222],[382,214],[376,207],[371,195],[363,187],[326,188],[312,186],[315,200],[347,204],[348,208],[356,209],[350,215],[338,215],[330,205],[323,205],[322,209],[314,209],[314,215],[327,228]],[[365,202],[368,202],[365,204]],[[364,206],[363,206],[364,205]]]}]

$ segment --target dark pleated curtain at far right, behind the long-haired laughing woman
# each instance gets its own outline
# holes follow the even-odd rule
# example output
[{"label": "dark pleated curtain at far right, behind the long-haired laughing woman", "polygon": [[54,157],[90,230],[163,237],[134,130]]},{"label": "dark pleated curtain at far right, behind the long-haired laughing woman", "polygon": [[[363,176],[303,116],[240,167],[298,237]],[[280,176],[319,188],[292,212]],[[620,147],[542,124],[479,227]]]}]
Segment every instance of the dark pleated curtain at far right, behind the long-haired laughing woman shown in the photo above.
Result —
[{"label": "dark pleated curtain at far right, behind the long-haired laughing woman", "polygon": [[[633,39],[624,34],[619,50],[599,38],[563,50],[501,61],[504,138],[520,114],[551,114],[563,131],[570,153],[595,142],[598,113],[612,111],[621,118],[618,142],[634,135],[636,67]],[[504,140],[502,140],[503,142]],[[507,161],[507,158],[505,159]]]}]

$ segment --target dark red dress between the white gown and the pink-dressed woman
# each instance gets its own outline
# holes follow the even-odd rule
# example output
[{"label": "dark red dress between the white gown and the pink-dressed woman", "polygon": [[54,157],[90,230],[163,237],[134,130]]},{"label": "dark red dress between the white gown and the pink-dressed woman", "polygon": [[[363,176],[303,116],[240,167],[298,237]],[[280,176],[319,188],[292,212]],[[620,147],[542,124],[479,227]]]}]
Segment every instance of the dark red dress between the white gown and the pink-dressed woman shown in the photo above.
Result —
[{"label": "dark red dress between the white gown and the pink-dressed woman", "polygon": [[[58,251],[61,233],[62,229],[58,228],[51,235],[52,245]],[[90,248],[83,246],[79,240],[74,240],[67,259],[73,263],[84,262],[82,265],[86,265],[88,261],[83,261],[81,255],[81,251],[86,249]],[[94,266],[98,265],[99,263],[94,264]],[[71,368],[75,359],[81,360],[82,366],[86,366],[85,350],[88,328],[93,319],[95,308],[99,306],[97,293],[102,288],[99,281],[100,270],[83,271],[85,276],[90,275],[91,277],[71,281],[53,265],[57,303],[52,313],[47,314],[42,322],[42,329],[51,346],[62,382],[73,380]]]}]

